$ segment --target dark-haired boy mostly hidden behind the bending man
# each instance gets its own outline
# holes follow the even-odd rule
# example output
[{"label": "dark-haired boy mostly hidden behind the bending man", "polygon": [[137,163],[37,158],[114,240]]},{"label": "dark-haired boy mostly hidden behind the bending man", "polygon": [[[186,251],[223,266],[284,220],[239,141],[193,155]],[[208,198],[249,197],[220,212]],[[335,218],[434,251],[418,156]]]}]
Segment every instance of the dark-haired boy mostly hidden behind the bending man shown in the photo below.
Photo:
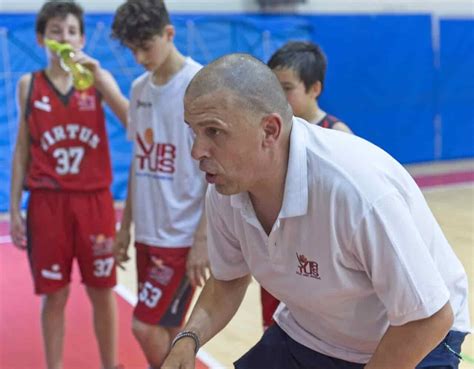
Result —
[{"label": "dark-haired boy mostly hidden behind the bending man", "polygon": [[[352,133],[338,118],[324,112],[318,98],[324,89],[327,59],[321,48],[309,41],[290,41],[275,51],[267,65],[285,91],[295,116],[324,128]],[[273,313],[280,301],[260,288],[263,327],[273,323]]]}]

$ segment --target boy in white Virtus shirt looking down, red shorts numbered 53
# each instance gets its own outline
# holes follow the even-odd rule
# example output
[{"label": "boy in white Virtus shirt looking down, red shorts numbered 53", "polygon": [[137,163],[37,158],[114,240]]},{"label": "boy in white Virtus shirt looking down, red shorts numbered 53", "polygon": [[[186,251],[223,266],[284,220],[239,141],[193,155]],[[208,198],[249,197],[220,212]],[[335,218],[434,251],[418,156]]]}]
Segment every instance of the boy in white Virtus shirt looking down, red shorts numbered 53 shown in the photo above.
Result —
[{"label": "boy in white Virtus shirt looking down, red shorts numbered 53", "polygon": [[129,192],[117,234],[118,262],[128,260],[135,225],[138,303],[133,333],[152,368],[160,368],[208,265],[206,181],[191,158],[184,92],[201,68],[174,45],[175,29],[161,0],[122,4],[112,36],[146,72],[132,85],[128,134],[134,142]]}]

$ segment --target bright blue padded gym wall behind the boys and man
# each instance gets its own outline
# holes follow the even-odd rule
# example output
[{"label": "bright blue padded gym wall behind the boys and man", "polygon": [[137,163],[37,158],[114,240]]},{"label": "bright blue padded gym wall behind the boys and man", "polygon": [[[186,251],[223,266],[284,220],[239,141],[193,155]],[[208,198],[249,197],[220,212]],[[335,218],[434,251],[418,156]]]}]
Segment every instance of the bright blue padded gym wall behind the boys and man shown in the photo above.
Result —
[{"label": "bright blue padded gym wall behind the boys and man", "polygon": [[[8,209],[16,83],[23,73],[45,65],[34,19],[34,14],[0,14],[0,211]],[[115,75],[128,95],[131,81],[143,70],[128,50],[110,40],[111,21],[111,14],[87,16],[86,52]],[[173,23],[178,48],[203,64],[237,51],[266,62],[287,40],[311,39],[329,60],[321,107],[356,134],[402,163],[474,157],[473,19],[179,14]],[[123,199],[130,143],[110,112],[107,119],[113,192]]]}]

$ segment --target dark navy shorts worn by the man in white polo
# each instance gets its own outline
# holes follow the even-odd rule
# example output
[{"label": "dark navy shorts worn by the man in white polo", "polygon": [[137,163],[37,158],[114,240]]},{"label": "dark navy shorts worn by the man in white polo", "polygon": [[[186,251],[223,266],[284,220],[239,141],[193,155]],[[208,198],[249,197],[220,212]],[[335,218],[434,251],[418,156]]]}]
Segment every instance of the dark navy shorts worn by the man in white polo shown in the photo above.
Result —
[{"label": "dark navy shorts worn by the man in white polo", "polygon": [[[457,369],[466,333],[451,331],[417,369]],[[236,369],[363,369],[365,364],[332,358],[288,336],[277,324],[268,328],[257,344],[234,363]]]}]

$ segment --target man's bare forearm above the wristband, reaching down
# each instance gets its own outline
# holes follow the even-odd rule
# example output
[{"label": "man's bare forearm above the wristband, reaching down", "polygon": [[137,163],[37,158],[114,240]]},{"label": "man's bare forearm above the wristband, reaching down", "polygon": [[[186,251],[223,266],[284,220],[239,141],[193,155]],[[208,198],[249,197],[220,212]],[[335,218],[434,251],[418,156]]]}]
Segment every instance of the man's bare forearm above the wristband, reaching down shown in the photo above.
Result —
[{"label": "man's bare forearm above the wristband, reaching down", "polygon": [[205,344],[221,331],[237,312],[250,276],[219,281],[211,276],[204,286],[184,330],[195,332]]}]

